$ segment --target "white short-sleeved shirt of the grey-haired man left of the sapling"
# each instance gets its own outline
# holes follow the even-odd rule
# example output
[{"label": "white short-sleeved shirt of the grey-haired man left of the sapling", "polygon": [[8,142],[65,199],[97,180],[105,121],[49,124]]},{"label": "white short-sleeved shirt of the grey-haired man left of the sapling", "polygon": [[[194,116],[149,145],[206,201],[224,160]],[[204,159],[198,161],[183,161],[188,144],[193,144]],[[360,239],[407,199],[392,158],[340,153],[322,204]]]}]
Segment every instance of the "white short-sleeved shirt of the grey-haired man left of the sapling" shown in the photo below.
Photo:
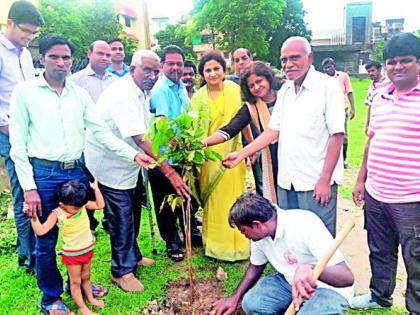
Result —
[{"label": "white short-sleeved shirt of the grey-haired man left of the sapling", "polygon": [[[131,76],[125,76],[101,94],[96,109],[118,138],[138,150],[132,137],[147,132],[152,118],[149,100],[149,93],[140,90]],[[134,160],[121,159],[89,132],[85,159],[89,171],[101,184],[114,189],[136,186],[140,166]]]}]

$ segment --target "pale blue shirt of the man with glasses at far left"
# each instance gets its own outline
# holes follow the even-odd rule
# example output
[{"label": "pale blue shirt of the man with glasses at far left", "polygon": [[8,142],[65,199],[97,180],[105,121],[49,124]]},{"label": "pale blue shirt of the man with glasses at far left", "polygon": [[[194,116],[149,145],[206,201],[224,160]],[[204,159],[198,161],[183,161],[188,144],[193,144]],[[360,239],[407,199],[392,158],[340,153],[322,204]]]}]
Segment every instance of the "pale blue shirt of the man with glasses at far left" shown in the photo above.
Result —
[{"label": "pale blue shirt of the man with glasses at far left", "polygon": [[9,124],[10,97],[16,84],[35,77],[28,49],[18,48],[0,34],[0,126]]}]

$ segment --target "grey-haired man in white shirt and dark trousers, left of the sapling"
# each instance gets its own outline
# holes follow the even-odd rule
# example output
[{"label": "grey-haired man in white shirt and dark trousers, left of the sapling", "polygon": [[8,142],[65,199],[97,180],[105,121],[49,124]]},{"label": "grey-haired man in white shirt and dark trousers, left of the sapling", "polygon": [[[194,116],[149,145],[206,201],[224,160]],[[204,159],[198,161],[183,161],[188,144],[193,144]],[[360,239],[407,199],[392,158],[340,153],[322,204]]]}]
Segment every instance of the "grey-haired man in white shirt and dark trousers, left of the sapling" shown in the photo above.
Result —
[{"label": "grey-haired man in white shirt and dark trousers, left of the sapling", "polygon": [[[137,51],[127,75],[106,89],[99,97],[96,109],[114,135],[134,149],[151,153],[150,142],[142,140],[152,117],[150,90],[160,72],[160,59],[147,50]],[[142,257],[137,244],[140,207],[136,204],[135,188],[140,167],[124,160],[88,133],[85,149],[86,165],[98,179],[107,207],[111,240],[111,280],[124,291],[141,292],[141,282],[134,276],[137,266],[147,266],[154,260]],[[188,197],[189,188],[181,176],[167,163],[159,166],[179,195]]]}]

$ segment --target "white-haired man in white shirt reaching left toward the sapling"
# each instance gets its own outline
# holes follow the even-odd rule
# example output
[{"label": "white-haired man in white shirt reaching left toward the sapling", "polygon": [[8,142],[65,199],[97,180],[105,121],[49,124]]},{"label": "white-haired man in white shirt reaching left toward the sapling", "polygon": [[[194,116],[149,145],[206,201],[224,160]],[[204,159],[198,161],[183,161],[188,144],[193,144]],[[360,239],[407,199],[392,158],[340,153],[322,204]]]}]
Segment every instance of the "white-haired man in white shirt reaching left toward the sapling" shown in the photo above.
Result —
[{"label": "white-haired man in white shirt reaching left toward the sapling", "polygon": [[309,42],[288,38],[280,61],[287,81],[277,95],[269,128],[223,163],[242,159],[278,140],[278,200],[282,209],[316,213],[335,236],[337,184],[342,183],[344,98],[334,78],[312,66]]}]

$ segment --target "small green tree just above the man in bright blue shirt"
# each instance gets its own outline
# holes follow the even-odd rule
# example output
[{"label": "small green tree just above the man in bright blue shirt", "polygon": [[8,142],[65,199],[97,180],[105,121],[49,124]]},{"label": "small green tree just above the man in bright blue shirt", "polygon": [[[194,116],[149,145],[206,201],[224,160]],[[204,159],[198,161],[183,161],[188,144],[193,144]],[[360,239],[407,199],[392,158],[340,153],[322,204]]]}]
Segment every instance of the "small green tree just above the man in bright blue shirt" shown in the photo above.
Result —
[{"label": "small green tree just above the man in bright blue shirt", "polygon": [[179,46],[185,54],[186,59],[196,60],[197,57],[193,50],[190,40],[190,29],[185,24],[169,24],[164,30],[156,33],[155,37],[159,44],[159,49],[156,51],[161,55],[162,49],[168,45]]}]

